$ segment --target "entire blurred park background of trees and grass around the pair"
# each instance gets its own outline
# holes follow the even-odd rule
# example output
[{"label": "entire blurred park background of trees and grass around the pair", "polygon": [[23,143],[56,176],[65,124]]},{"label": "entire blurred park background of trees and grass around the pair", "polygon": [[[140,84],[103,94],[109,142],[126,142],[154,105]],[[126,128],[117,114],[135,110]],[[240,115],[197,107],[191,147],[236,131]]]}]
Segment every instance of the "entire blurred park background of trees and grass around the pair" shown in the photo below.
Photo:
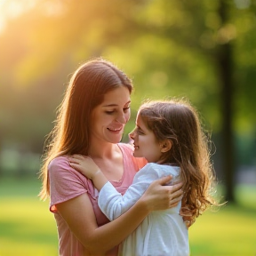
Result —
[{"label": "entire blurred park background of trees and grass around the pair", "polygon": [[[114,62],[146,99],[185,97],[212,136],[228,204],[189,230],[191,255],[256,255],[255,0],[0,0],[0,255],[58,255],[41,156],[72,73]],[[18,253],[19,252],[19,253]]]}]

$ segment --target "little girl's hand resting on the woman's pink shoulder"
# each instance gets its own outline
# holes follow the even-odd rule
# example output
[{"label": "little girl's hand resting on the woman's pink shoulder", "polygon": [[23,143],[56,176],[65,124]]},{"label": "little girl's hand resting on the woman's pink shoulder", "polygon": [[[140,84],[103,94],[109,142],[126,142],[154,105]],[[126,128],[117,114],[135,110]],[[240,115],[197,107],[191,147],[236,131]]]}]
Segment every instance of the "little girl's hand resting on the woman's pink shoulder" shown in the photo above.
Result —
[{"label": "little girl's hand resting on the woman's pink shoulder", "polygon": [[96,173],[101,172],[100,167],[94,163],[90,156],[68,156],[68,161],[71,167],[76,169],[76,171],[81,172],[88,179],[93,180]]}]

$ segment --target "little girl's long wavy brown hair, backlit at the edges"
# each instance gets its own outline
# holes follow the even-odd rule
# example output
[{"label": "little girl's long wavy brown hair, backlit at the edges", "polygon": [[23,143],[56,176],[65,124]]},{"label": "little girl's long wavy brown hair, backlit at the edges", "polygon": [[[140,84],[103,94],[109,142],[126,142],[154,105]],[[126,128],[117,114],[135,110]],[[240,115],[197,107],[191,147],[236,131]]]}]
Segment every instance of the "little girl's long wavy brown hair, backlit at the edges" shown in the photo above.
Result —
[{"label": "little girl's long wavy brown hair, backlit at the edges", "polygon": [[212,194],[216,177],[210,160],[210,140],[203,132],[196,108],[188,100],[148,101],[139,115],[156,140],[171,140],[161,163],[180,166],[183,198],[180,215],[190,227],[209,206],[219,205]]}]

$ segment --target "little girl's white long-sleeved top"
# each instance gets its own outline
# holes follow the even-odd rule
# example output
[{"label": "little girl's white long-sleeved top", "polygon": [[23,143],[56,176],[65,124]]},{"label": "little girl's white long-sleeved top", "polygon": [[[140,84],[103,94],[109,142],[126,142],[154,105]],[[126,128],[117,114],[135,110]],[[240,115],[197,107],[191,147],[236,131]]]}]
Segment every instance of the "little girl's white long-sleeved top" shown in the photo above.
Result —
[{"label": "little girl's white long-sleeved top", "polygon": [[[126,212],[142,196],[152,181],[172,174],[172,182],[179,179],[180,167],[146,164],[134,176],[124,196],[108,182],[100,190],[98,204],[109,220]],[[180,216],[180,206],[151,212],[119,247],[122,256],[187,256],[188,228]]]}]

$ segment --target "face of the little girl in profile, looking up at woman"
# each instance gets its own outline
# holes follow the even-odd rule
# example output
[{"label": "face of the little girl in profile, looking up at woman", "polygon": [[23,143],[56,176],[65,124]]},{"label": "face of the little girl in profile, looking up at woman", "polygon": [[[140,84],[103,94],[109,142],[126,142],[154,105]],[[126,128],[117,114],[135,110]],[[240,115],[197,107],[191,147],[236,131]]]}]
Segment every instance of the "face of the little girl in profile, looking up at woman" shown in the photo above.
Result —
[{"label": "face of the little girl in profile, looking up at woman", "polygon": [[148,126],[140,117],[140,112],[136,118],[136,128],[130,133],[133,140],[135,157],[145,157],[148,163],[157,163],[162,156],[161,145],[156,140],[154,132],[148,129]]}]

